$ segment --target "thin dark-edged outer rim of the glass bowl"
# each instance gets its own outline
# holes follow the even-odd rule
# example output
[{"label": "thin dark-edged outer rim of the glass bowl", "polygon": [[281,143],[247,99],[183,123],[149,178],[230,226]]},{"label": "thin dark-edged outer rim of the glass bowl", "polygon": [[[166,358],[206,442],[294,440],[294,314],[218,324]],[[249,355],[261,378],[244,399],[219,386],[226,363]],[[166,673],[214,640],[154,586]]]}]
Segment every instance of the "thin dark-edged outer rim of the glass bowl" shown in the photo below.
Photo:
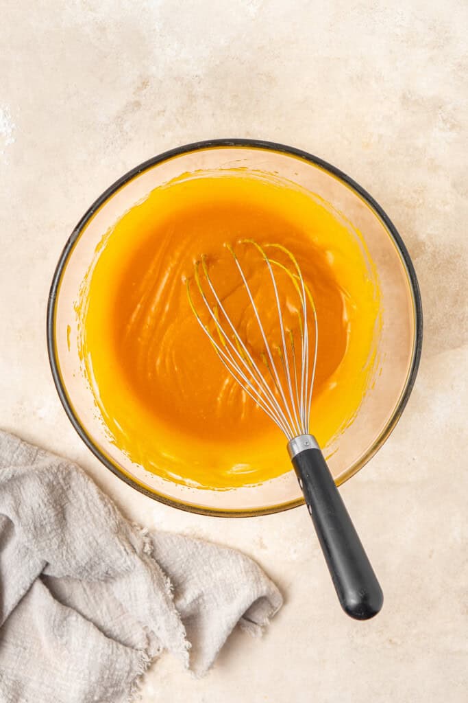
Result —
[{"label": "thin dark-edged outer rim of the glass bowl", "polygon": [[62,253],[60,254],[60,257],[58,259],[58,264],[55,267],[55,271],[53,274],[53,279],[51,283],[51,289],[49,292],[48,296],[48,303],[47,303],[47,315],[46,315],[46,336],[47,336],[47,349],[48,349],[48,359],[49,363],[51,366],[51,371],[52,371],[52,376],[53,376],[53,381],[55,383],[55,388],[57,389],[58,396],[60,398],[60,401],[62,403],[63,408],[65,409],[65,413],[67,413],[67,416],[72,423],[74,429],[76,432],[79,434],[79,437],[83,440],[83,442],[88,446],[88,449],[91,450],[91,452],[100,460],[102,464],[104,464],[109,470],[112,471],[112,473],[116,476],[118,476],[121,480],[126,482],[129,486],[132,486],[133,488],[137,489],[140,491],[140,493],[145,494],[149,498],[152,498],[153,500],[159,501],[160,503],[164,503],[166,505],[170,505],[173,508],[179,508],[180,510],[185,510],[187,512],[195,512],[199,513],[200,515],[209,515],[211,517],[253,517],[255,515],[269,515],[274,512],[281,512],[283,510],[290,510],[291,508],[297,508],[298,505],[303,505],[304,504],[304,499],[303,498],[297,498],[294,501],[288,501],[287,503],[278,503],[277,505],[268,505],[266,508],[253,508],[253,509],[243,509],[243,510],[229,510],[229,509],[215,509],[215,508],[206,508],[203,505],[195,505],[194,503],[185,503],[183,501],[177,501],[173,498],[168,498],[168,496],[165,496],[164,494],[159,494],[156,491],[150,491],[149,489],[145,488],[142,484],[138,483],[137,480],[133,479],[130,477],[126,472],[123,472],[121,468],[119,468],[116,463],[114,463],[110,458],[105,456],[102,451],[96,446],[93,442],[93,439],[89,437],[88,433],[84,429],[84,427],[81,425],[81,422],[79,420],[79,417],[74,413],[74,409],[72,407],[71,402],[69,401],[69,398],[67,396],[67,391],[65,389],[65,384],[62,382],[62,378],[60,375],[60,366],[58,362],[58,355],[56,353],[56,344],[55,344],[55,310],[56,310],[56,304],[57,304],[57,299],[58,299],[58,290],[60,288],[60,281],[62,279],[62,274],[65,271],[65,266],[67,264],[67,261],[69,259],[70,254],[72,253],[72,250],[74,249],[74,245],[76,241],[78,240],[79,236],[81,236],[81,232],[85,228],[86,224],[88,221],[93,217],[95,212],[97,212],[104,203],[109,200],[109,198],[114,195],[117,191],[120,190],[123,186],[126,186],[126,184],[134,179],[136,176],[139,176],[143,172],[147,171],[148,169],[156,166],[157,164],[167,161],[173,157],[180,156],[185,153],[189,153],[192,151],[197,151],[197,150],[206,150],[206,149],[212,149],[212,148],[222,148],[222,147],[239,147],[239,148],[253,148],[253,149],[260,149],[260,150],[271,150],[271,151],[276,151],[279,153],[283,153],[286,155],[294,156],[294,157],[299,157],[300,159],[311,163],[312,165],[319,167],[326,172],[332,174],[335,176],[335,178],[339,179],[343,183],[345,183],[345,186],[348,186],[351,188],[353,191],[355,191],[358,195],[363,198],[363,200],[366,201],[366,203],[370,206],[371,209],[377,214],[377,217],[380,217],[380,219],[383,221],[385,224],[385,227],[387,228],[387,231],[389,232],[389,236],[393,239],[394,245],[396,246],[397,251],[399,252],[403,265],[406,269],[406,273],[408,276],[408,282],[410,285],[410,291],[413,297],[413,311],[415,315],[415,336],[413,340],[413,356],[411,359],[411,364],[410,364],[410,369],[408,371],[408,375],[406,378],[406,385],[403,389],[403,392],[401,393],[401,397],[399,399],[398,404],[394,408],[394,411],[392,413],[391,418],[389,418],[389,421],[387,425],[384,427],[382,432],[380,432],[379,436],[375,439],[373,442],[373,445],[370,447],[370,449],[367,451],[367,453],[361,457],[359,461],[354,463],[347,472],[345,472],[344,475],[340,476],[340,479],[338,480],[338,485],[344,483],[347,481],[347,479],[351,478],[356,474],[361,468],[368,463],[370,458],[374,456],[374,454],[380,449],[380,447],[385,444],[385,441],[387,441],[389,435],[392,433],[394,430],[394,427],[396,426],[396,423],[398,423],[399,419],[401,418],[401,414],[403,413],[403,410],[408,403],[408,399],[410,397],[411,391],[413,390],[413,386],[415,384],[415,379],[417,375],[417,370],[420,365],[420,359],[421,359],[421,351],[422,351],[422,300],[421,300],[421,294],[420,294],[420,287],[419,284],[417,283],[417,276],[415,273],[415,269],[413,266],[413,262],[410,259],[410,255],[408,253],[408,250],[406,249],[406,245],[403,243],[403,240],[397,231],[396,227],[394,226],[393,222],[389,219],[387,213],[385,212],[384,209],[378,204],[378,202],[368,193],[362,186],[359,185],[359,183],[356,183],[354,179],[352,179],[350,176],[342,172],[340,169],[337,167],[333,166],[332,164],[324,161],[318,156],[315,156],[313,154],[308,153],[307,151],[304,151],[302,149],[298,149],[292,146],[286,146],[285,144],[277,143],[277,142],[272,142],[272,141],[263,141],[261,139],[250,139],[250,138],[220,138],[220,139],[208,139],[204,141],[196,141],[192,142],[189,144],[185,144],[183,146],[178,146],[173,149],[164,151],[160,153],[159,155],[156,155],[152,158],[147,159],[146,161],[142,162],[142,164],[134,167],[130,171],[128,171],[126,174],[121,176],[119,179],[117,179],[114,183],[112,183],[111,186],[106,188],[106,190],[101,193],[101,195],[93,202],[93,205],[89,207],[85,214],[83,214],[83,217],[79,220],[78,224],[76,224],[74,230],[72,231],[71,235],[69,236],[67,242],[65,243],[65,247],[63,247]]}]

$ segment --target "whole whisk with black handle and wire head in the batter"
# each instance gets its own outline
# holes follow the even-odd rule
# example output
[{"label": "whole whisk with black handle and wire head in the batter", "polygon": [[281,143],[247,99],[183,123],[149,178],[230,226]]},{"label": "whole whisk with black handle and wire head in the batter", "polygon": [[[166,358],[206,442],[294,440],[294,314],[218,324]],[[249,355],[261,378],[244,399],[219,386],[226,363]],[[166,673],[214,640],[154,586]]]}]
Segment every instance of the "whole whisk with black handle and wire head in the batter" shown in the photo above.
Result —
[{"label": "whole whisk with black handle and wire head in the batter", "polygon": [[[309,433],[319,346],[314,298],[286,247],[240,240],[225,252],[230,276],[206,255],[194,263],[186,282],[190,307],[220,361],[286,435],[340,604],[349,616],[368,619],[382,607],[382,590]],[[260,295],[270,297],[263,309]]]}]

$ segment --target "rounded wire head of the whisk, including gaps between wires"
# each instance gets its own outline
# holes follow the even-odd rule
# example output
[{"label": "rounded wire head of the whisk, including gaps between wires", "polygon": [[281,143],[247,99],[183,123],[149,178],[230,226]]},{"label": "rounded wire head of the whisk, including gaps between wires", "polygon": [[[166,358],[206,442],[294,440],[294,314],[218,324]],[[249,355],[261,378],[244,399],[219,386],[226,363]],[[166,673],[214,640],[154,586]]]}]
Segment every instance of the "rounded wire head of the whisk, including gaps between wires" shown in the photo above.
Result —
[{"label": "rounded wire head of the whisk, including gaps between wires", "polygon": [[220,361],[290,441],[309,432],[314,299],[280,244],[241,240],[226,244],[225,256],[230,269],[204,254],[196,260],[186,280],[190,307]]}]

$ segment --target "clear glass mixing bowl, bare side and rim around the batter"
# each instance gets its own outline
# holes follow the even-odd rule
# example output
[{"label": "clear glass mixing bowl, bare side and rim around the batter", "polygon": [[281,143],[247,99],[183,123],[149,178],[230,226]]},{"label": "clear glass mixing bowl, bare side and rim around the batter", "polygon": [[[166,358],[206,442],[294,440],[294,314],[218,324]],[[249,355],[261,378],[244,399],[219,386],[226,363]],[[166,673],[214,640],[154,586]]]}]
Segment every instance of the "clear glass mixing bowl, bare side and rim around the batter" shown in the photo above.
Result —
[{"label": "clear glass mixing bowl, bare side and rim around the batter", "polygon": [[276,143],[222,139],[167,151],[122,176],[91,205],[65,245],[48,301],[47,339],[53,379],[65,411],[105,466],[162,503],[204,515],[241,517],[301,505],[304,498],[294,472],[256,486],[216,491],[182,486],[132,463],[112,444],[97,416],[81,371],[74,310],[102,236],[128,209],[182,174],[232,168],[275,174],[312,191],[343,214],[366,240],[380,283],[380,370],[328,458],[337,484],[359,471],[389,437],[413,387],[422,344],[420,292],[406,247],[380,205],[349,176],[316,156]]}]

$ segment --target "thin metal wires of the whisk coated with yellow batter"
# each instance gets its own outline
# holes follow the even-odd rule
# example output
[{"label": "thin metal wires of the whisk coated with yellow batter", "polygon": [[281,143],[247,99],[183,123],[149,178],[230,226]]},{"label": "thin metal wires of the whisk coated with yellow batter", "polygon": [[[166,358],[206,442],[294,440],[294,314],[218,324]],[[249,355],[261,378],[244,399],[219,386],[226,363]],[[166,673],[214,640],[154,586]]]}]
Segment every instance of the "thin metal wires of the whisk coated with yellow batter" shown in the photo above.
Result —
[{"label": "thin metal wires of the whisk coated with yellow batter", "polygon": [[[229,373],[290,440],[309,432],[318,342],[314,299],[305,285],[297,259],[286,247],[274,243],[260,246],[254,240],[242,240],[238,245],[236,251],[231,245],[225,247],[239,274],[239,286],[243,286],[246,292],[262,348],[249,349],[245,335],[243,337],[236,328],[232,311],[227,310],[222,295],[213,283],[205,255],[195,262],[193,279],[187,278],[186,281],[189,304]],[[255,302],[253,285],[246,273],[241,253],[245,254],[246,247],[253,247],[253,252],[258,254],[258,266],[265,267],[263,273],[267,274],[267,280],[271,283],[279,339],[268,338],[263,319],[266,311],[260,311]],[[290,291],[297,295],[297,305],[293,311],[295,325],[289,325],[288,328],[285,327],[284,317],[286,312],[291,316],[291,311],[283,309],[284,302],[281,305],[284,290],[279,287],[279,278],[283,283],[288,282]],[[199,293],[197,297],[202,308],[200,310],[194,302],[191,290],[193,282]],[[309,333],[310,312],[314,333],[312,342]]]}]

